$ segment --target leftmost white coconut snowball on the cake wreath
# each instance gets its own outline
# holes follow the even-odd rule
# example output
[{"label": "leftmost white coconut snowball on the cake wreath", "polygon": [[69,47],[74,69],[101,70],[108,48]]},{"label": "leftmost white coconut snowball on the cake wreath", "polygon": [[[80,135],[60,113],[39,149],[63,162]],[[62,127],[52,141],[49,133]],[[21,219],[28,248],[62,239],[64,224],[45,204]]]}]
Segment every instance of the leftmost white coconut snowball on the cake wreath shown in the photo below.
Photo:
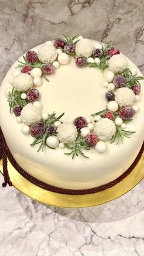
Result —
[{"label": "leftmost white coconut snowball on the cake wreath", "polygon": [[25,92],[26,90],[32,88],[33,79],[30,75],[26,73],[21,73],[13,78],[12,84],[16,90],[19,90],[20,92]]}]

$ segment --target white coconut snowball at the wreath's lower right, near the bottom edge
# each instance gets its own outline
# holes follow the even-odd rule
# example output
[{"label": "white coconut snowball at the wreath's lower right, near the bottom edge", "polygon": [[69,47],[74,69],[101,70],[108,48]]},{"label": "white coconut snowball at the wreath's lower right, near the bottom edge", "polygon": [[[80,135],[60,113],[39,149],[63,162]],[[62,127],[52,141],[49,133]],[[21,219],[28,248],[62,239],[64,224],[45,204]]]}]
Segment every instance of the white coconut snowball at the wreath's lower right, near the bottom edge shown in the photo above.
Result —
[{"label": "white coconut snowball at the wreath's lower right, near the bottom edge", "polygon": [[100,141],[107,141],[107,139],[112,139],[116,128],[112,120],[108,118],[102,118],[96,122],[94,131]]}]

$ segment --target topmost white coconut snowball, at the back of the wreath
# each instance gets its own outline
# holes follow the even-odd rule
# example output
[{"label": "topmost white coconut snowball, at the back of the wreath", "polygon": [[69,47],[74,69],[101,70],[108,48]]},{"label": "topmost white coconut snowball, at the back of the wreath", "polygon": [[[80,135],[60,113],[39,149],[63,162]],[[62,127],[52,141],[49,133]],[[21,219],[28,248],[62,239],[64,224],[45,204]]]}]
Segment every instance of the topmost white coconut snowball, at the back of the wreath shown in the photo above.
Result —
[{"label": "topmost white coconut snowball, at the back of the wreath", "polygon": [[91,40],[83,38],[76,43],[76,55],[84,56],[86,58],[90,57],[95,49],[95,45]]}]

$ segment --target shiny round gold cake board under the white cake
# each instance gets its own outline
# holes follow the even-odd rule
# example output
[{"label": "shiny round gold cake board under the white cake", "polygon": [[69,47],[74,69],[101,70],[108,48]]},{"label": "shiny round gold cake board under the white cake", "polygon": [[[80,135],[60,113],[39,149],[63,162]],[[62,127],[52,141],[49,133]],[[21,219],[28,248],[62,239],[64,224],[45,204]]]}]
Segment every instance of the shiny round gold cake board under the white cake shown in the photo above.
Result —
[{"label": "shiny round gold cake board under the white cake", "polygon": [[[46,205],[53,205],[56,207],[68,207],[68,208],[81,208],[81,207],[93,207],[102,203],[107,203],[111,200],[126,194],[134,186],[136,186],[144,177],[144,153],[140,158],[137,166],[132,170],[126,178],[121,180],[117,185],[112,186],[101,192],[85,195],[66,195],[51,192],[46,189],[40,188],[34,185],[30,181],[26,180],[10,163],[8,160],[8,169],[10,180],[13,186],[26,196],[37,200],[40,203]],[[0,170],[2,173],[2,160],[0,161]],[[8,185],[9,186],[9,185]],[[4,188],[3,188],[4,189]],[[7,188],[5,188],[7,189]]]}]

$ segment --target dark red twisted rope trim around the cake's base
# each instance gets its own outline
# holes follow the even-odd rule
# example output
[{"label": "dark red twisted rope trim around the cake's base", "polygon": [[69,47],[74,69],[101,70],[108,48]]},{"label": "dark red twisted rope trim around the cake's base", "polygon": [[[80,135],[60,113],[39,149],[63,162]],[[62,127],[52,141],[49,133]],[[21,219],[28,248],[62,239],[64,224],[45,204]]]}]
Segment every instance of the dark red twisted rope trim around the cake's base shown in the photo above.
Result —
[{"label": "dark red twisted rope trim around the cake's base", "polygon": [[57,188],[55,186],[48,185],[47,183],[45,183],[43,181],[40,181],[40,180],[37,180],[37,178],[32,177],[30,174],[27,174],[27,172],[24,169],[22,169],[18,165],[18,163],[16,163],[15,159],[13,158],[12,154],[10,153],[9,147],[7,146],[7,143],[5,142],[4,134],[2,133],[1,127],[0,127],[0,136],[1,136],[0,156],[2,157],[2,160],[3,160],[3,169],[4,169],[3,171],[4,171],[4,180],[5,180],[5,183],[3,183],[3,186],[6,186],[7,184],[12,186],[12,182],[10,181],[9,173],[8,173],[8,170],[7,170],[7,163],[6,163],[6,166],[5,166],[5,156],[7,156],[7,158],[9,158],[10,163],[13,165],[13,167],[15,167],[15,169],[27,180],[31,181],[35,185],[40,186],[41,188],[44,188],[46,190],[56,192],[56,193],[59,193],[59,194],[68,194],[68,195],[93,194],[93,193],[96,193],[96,192],[103,191],[107,188],[111,188],[112,186],[116,185],[121,180],[126,178],[129,174],[131,174],[132,170],[134,169],[134,167],[139,162],[139,160],[140,160],[140,158],[143,154],[143,150],[144,150],[144,142],[143,142],[143,145],[140,148],[140,152],[137,155],[137,157],[135,158],[134,162],[126,170],[126,172],[124,172],[120,177],[116,178],[115,180],[110,181],[106,185],[102,185],[102,186],[99,186],[97,188],[73,190],[73,189]]}]

